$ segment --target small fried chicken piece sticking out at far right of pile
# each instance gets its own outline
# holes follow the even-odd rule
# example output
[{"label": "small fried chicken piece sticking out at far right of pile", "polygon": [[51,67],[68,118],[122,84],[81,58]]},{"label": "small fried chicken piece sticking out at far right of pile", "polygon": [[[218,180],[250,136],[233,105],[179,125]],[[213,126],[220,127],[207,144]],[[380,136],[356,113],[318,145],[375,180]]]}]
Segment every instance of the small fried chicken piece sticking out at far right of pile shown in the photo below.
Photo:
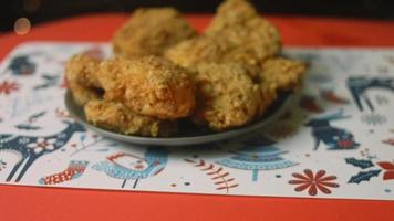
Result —
[{"label": "small fried chicken piece sticking out at far right of pile", "polygon": [[274,57],[262,63],[260,77],[265,85],[270,85],[270,87],[277,90],[289,91],[301,85],[305,69],[307,66],[303,62]]}]

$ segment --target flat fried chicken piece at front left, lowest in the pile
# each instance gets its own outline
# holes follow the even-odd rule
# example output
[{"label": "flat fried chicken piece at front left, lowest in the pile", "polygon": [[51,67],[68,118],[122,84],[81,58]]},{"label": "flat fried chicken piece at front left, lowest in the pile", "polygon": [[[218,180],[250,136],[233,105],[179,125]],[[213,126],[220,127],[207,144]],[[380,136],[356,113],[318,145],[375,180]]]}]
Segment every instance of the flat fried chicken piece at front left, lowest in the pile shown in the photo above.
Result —
[{"label": "flat fried chicken piece at front left, lowest in the pile", "polygon": [[138,115],[121,103],[90,101],[85,107],[87,122],[125,135],[170,136],[176,133],[176,122],[160,120]]}]

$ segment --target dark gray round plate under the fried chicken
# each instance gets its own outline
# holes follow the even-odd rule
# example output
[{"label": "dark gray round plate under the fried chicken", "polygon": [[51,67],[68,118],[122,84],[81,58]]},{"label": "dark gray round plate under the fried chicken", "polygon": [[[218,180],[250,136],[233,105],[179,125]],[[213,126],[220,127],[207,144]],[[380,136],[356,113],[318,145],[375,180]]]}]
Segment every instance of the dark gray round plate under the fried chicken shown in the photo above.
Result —
[{"label": "dark gray round plate under the fried chicken", "polygon": [[262,116],[260,119],[256,120],[252,124],[246,125],[240,128],[231,129],[222,133],[215,133],[208,129],[201,129],[195,127],[193,124],[188,122],[179,123],[179,134],[175,137],[142,137],[142,136],[131,136],[123,135],[118,133],[114,133],[111,130],[106,130],[100,127],[96,127],[86,122],[85,114],[83,112],[83,107],[75,104],[73,96],[70,91],[65,93],[65,106],[70,113],[70,115],[79,123],[84,125],[85,127],[94,130],[95,133],[113,138],[120,141],[126,141],[132,144],[139,145],[159,145],[159,146],[187,146],[187,145],[198,145],[205,143],[214,143],[224,139],[230,139],[238,137],[240,135],[246,135],[253,133],[267,124],[269,124],[276,116],[278,116],[281,112],[283,112],[284,107],[290,103],[292,94],[281,94],[279,98],[270,106],[267,114]]}]

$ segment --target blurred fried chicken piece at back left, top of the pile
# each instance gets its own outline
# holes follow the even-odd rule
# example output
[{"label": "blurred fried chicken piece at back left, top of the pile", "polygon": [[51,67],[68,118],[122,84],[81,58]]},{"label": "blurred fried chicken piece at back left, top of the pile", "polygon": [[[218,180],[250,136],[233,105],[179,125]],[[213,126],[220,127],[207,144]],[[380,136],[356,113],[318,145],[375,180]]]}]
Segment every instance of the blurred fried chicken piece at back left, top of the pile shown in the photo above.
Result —
[{"label": "blurred fried chicken piece at back left, top of the pile", "polygon": [[162,55],[172,45],[197,35],[173,8],[137,9],[112,40],[118,56]]}]

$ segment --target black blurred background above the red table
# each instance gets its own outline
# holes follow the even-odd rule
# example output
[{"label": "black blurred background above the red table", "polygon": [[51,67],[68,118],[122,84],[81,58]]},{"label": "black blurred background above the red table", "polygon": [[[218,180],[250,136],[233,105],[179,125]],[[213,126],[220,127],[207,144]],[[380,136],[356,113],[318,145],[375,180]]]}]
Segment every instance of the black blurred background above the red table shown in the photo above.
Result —
[{"label": "black blurred background above the red table", "polygon": [[[1,0],[0,31],[10,31],[18,18],[33,24],[92,12],[131,12],[137,7],[173,6],[182,12],[212,13],[221,0]],[[266,14],[394,19],[391,0],[253,0]]]}]

